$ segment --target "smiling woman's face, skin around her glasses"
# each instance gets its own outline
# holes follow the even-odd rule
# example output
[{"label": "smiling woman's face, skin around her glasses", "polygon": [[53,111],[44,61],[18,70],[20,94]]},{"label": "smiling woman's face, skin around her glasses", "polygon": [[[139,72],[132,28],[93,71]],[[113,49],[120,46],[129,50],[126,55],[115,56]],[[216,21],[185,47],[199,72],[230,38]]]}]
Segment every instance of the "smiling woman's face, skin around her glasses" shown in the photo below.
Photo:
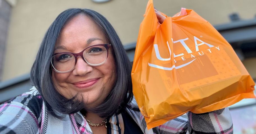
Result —
[{"label": "smiling woman's face, skin around her glasses", "polygon": [[[54,53],[79,53],[96,44],[108,44],[99,26],[85,15],[78,15],[70,20],[61,30]],[[77,93],[82,95],[87,107],[99,105],[108,96],[116,79],[116,68],[112,48],[106,62],[99,66],[90,66],[83,57],[77,57],[74,70],[58,73],[52,70],[52,80],[56,90],[65,98],[72,98]]]}]

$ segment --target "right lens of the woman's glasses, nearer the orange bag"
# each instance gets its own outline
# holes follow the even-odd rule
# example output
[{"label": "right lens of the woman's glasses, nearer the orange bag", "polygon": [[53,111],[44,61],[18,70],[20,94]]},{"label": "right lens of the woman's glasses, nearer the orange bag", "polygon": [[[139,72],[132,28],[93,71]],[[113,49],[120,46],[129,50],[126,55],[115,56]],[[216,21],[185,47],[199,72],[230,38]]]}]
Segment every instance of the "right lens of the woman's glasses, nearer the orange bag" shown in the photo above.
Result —
[{"label": "right lens of the woman's glasses, nearer the orange bag", "polygon": [[107,55],[107,49],[100,45],[89,47],[83,53],[85,60],[91,65],[102,64],[105,62]]}]

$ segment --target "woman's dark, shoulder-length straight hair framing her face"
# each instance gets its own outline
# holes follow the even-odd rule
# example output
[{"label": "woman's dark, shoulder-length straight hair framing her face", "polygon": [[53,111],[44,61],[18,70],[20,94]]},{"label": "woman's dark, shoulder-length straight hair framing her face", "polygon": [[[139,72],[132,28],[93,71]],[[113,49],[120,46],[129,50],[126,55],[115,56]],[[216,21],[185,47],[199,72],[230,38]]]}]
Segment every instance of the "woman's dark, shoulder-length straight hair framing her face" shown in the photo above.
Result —
[{"label": "woman's dark, shoulder-length straight hair framing her face", "polygon": [[[124,47],[116,34],[112,25],[108,20],[89,9],[72,8],[63,11],[54,22],[50,25],[45,33],[39,51],[36,55],[36,60],[31,68],[31,81],[39,93],[44,98],[48,111],[59,119],[63,118],[63,114],[72,114],[83,110],[84,114],[89,111],[81,99],[77,99],[77,95],[71,99],[63,97],[54,88],[51,79],[51,57],[54,53],[55,43],[60,35],[64,25],[74,18],[82,14],[90,17],[104,32],[110,44],[113,45],[116,64],[116,81],[109,93],[108,97],[97,107],[90,109],[91,112],[97,113],[100,117],[109,117],[114,114],[119,114],[131,102],[132,82],[131,82],[131,63],[126,55]],[[61,113],[62,115],[58,114]]]}]

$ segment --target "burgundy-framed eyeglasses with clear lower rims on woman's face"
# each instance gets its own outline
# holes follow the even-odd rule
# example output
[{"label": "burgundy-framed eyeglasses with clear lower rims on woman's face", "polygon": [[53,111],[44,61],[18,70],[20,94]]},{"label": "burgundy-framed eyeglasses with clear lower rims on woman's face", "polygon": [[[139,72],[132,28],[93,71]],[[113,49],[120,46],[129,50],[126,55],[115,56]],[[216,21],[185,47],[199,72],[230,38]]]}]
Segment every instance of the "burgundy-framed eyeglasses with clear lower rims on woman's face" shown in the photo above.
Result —
[{"label": "burgundy-framed eyeglasses with clear lower rims on woman's face", "polygon": [[58,73],[67,73],[75,68],[77,57],[83,57],[91,66],[102,65],[108,58],[108,50],[111,44],[97,44],[85,48],[80,53],[61,52],[54,53],[51,58],[53,69]]}]

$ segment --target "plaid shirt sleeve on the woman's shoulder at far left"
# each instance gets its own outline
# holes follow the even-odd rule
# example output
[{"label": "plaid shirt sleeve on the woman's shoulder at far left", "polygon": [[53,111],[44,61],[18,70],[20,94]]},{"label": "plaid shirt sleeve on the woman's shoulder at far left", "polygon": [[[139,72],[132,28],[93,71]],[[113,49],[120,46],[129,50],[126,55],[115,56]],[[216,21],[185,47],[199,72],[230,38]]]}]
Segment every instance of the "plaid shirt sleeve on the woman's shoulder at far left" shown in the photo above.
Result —
[{"label": "plaid shirt sleeve on the woman's shoulder at far left", "polygon": [[[0,105],[1,132],[21,133],[21,130],[38,132],[41,126],[43,98],[35,87]],[[27,129],[25,129],[27,128]]]}]

